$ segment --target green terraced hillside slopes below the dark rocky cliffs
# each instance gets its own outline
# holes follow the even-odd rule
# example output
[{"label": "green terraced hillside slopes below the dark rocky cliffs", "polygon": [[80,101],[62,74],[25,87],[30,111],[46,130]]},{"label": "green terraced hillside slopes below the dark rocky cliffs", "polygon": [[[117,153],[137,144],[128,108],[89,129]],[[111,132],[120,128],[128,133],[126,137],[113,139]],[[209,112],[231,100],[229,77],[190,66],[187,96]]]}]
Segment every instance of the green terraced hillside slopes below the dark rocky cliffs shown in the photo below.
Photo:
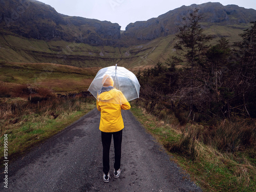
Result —
[{"label": "green terraced hillside slopes below the dark rocky cliffs", "polygon": [[[244,29],[250,25],[241,26],[210,26],[205,33],[216,38],[216,44],[221,36],[230,43],[239,41]],[[130,47],[90,46],[84,43],[64,40],[38,40],[26,38],[0,29],[0,62],[41,62],[58,63],[75,67],[106,67],[115,65],[126,68],[155,65],[172,55],[172,45],[175,35],[159,37],[146,44]]]}]

